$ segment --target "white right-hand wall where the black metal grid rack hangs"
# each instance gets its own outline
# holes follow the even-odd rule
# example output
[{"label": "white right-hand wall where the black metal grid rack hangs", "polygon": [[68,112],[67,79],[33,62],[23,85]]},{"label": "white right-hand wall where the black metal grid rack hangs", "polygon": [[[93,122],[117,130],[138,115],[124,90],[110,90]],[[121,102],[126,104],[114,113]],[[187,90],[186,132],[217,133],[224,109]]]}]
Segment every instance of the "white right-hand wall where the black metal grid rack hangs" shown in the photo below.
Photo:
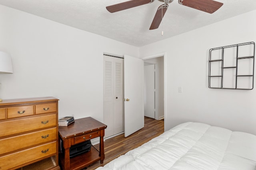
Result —
[{"label": "white right-hand wall where the black metal grid rack hangs", "polygon": [[140,48],[141,58],[166,52],[165,130],[197,121],[256,134],[255,88],[208,88],[209,49],[255,42],[255,17],[256,10]]}]

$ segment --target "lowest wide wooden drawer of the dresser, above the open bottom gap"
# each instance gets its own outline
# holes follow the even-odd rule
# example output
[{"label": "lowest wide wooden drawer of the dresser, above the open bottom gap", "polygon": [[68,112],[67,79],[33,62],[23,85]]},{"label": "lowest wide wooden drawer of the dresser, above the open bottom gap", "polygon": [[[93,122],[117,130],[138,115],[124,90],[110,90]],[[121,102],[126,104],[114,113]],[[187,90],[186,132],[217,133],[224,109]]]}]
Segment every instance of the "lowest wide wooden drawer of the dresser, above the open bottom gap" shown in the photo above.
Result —
[{"label": "lowest wide wooden drawer of the dresser, above the open bottom gap", "polygon": [[8,154],[0,157],[0,169],[16,169],[17,166],[40,158],[50,157],[56,154],[56,142],[40,145],[31,149],[22,150],[14,154]]}]

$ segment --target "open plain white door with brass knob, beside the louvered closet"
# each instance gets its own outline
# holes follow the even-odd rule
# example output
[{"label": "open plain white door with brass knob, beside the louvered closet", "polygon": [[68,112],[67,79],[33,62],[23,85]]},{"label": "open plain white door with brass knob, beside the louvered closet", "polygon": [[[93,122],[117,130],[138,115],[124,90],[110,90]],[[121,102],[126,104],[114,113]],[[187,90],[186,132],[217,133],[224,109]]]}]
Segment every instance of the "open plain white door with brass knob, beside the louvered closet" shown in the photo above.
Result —
[{"label": "open plain white door with brass knob, beside the louvered closet", "polygon": [[144,62],[124,55],[124,137],[144,127]]}]

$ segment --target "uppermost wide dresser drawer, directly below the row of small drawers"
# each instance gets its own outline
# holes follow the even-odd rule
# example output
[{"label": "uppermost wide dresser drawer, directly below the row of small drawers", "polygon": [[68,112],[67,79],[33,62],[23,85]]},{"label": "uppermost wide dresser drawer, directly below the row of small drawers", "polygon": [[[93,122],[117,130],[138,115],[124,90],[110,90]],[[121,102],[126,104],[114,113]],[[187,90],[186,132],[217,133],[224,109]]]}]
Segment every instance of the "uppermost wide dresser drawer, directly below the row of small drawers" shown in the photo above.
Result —
[{"label": "uppermost wide dresser drawer, directly below the row of small drawers", "polygon": [[56,114],[0,122],[0,137],[56,126]]}]

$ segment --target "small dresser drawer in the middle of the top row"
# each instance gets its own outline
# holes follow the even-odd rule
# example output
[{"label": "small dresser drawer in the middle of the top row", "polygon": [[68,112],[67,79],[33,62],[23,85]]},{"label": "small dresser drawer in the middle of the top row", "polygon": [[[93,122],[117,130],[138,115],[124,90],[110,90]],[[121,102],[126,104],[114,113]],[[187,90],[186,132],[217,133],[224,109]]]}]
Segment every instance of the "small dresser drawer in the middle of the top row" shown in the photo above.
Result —
[{"label": "small dresser drawer in the middle of the top row", "polygon": [[34,115],[34,106],[20,106],[7,108],[7,118]]}]

